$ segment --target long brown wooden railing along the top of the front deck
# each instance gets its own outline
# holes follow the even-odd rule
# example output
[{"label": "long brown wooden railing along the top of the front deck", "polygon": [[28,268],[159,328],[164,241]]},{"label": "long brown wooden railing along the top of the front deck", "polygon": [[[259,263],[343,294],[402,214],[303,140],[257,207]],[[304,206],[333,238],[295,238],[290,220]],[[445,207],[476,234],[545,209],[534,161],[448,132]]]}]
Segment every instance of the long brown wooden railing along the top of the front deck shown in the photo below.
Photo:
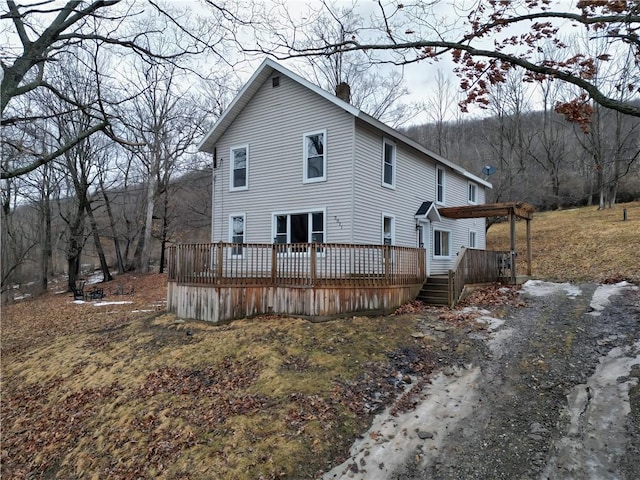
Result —
[{"label": "long brown wooden railing along the top of the front deck", "polygon": [[168,279],[243,286],[389,286],[425,280],[424,249],[337,243],[199,243],[170,247]]}]

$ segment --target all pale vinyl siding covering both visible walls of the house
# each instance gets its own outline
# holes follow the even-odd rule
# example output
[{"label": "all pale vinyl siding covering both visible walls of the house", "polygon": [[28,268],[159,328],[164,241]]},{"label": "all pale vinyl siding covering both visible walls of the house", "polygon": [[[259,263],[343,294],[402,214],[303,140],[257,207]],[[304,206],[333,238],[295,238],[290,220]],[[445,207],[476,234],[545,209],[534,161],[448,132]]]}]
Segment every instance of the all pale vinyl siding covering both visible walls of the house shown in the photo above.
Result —
[{"label": "all pale vinyl siding covering both visible walls of the house", "polygon": [[[322,130],[319,130],[322,129]],[[326,132],[326,180],[304,183],[304,136]],[[218,152],[250,145],[250,188],[236,194],[227,186],[231,159],[226,154],[214,171],[212,241],[228,241],[230,214],[246,212],[245,239],[272,243],[274,212],[323,211],[327,243],[380,244],[383,217],[393,217],[393,243],[417,247],[414,217],[423,201],[436,200],[436,161],[395,142],[395,189],[382,185],[385,138],[366,122],[331,104],[287,76],[272,87],[271,77],[256,88],[255,95],[216,144]],[[440,165],[441,166],[441,165]],[[447,205],[466,205],[470,179],[446,170]],[[478,203],[485,187],[478,184]],[[247,221],[248,220],[248,221]],[[433,230],[450,233],[450,257],[434,257]],[[469,231],[477,231],[477,246],[484,248],[484,219],[442,218],[430,222],[428,249],[432,274],[453,267],[460,247],[468,246]],[[313,235],[312,231],[312,235]]]}]

